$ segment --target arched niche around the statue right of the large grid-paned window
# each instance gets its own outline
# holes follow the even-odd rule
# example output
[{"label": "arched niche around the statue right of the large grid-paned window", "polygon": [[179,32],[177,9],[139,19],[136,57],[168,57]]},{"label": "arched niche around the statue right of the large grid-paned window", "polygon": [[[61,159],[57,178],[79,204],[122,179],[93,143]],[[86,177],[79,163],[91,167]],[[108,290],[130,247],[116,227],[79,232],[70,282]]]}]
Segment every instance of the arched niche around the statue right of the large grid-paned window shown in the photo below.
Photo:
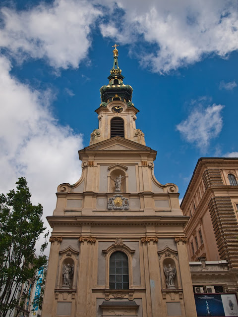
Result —
[{"label": "arched niche around the statue right of the large grid-paned window", "polygon": [[164,273],[164,267],[169,267],[169,264],[172,267],[176,268],[176,275],[174,278],[174,284],[176,289],[181,289],[181,280],[180,280],[180,270],[179,270],[179,261],[178,261],[178,252],[167,247],[161,251],[158,251],[159,255],[159,266],[161,274],[161,283],[162,289],[167,289],[166,286],[166,276]]}]

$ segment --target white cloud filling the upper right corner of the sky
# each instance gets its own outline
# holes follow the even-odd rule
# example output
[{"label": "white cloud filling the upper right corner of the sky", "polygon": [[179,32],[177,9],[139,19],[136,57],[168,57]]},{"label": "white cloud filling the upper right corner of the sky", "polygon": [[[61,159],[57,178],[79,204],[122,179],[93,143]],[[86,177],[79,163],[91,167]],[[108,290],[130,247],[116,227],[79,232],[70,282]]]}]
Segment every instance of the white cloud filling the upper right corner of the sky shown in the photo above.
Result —
[{"label": "white cloud filling the upper right corner of the sky", "polygon": [[[104,0],[110,5],[110,1]],[[103,36],[130,44],[143,66],[165,73],[207,54],[226,57],[238,50],[238,10],[234,1],[118,0],[125,15],[101,24]],[[112,3],[114,6],[115,4]],[[145,45],[140,45],[146,42]],[[151,44],[150,53],[143,47]]]}]

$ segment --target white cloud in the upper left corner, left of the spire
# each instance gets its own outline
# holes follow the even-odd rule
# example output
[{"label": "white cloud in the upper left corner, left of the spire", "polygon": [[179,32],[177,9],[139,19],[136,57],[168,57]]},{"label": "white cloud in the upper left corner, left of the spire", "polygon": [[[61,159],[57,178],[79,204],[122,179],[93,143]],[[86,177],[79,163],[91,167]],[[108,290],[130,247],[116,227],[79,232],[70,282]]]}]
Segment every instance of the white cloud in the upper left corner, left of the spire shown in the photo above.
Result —
[{"label": "white cloud in the upper left corner, left of the spire", "polygon": [[0,46],[18,61],[47,58],[55,68],[77,68],[91,45],[90,32],[101,11],[90,1],[56,0],[28,11],[1,9]]}]

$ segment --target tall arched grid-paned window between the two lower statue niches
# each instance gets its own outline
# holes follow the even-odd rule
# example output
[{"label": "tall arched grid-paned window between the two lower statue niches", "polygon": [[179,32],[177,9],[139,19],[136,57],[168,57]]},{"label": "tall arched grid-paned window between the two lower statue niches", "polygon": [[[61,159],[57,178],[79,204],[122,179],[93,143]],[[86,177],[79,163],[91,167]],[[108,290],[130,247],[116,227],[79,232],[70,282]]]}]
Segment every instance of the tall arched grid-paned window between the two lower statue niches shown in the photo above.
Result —
[{"label": "tall arched grid-paned window between the two lower statue niches", "polygon": [[114,252],[110,257],[109,288],[128,289],[128,258],[124,252]]}]

